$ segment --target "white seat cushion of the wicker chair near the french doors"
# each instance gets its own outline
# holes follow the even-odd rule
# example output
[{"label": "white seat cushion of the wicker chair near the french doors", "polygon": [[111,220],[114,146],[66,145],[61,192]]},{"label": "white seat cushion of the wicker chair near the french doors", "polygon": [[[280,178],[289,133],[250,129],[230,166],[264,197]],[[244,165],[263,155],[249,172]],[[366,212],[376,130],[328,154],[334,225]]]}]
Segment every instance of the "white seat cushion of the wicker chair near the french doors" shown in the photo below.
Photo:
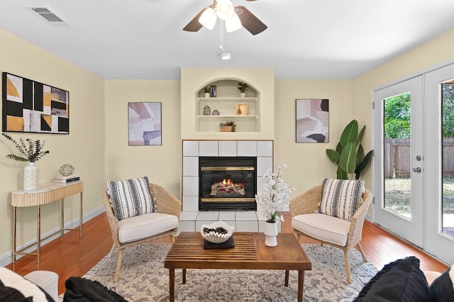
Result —
[{"label": "white seat cushion of the wicker chair near the french doors", "polygon": [[319,240],[345,247],[350,221],[321,214],[301,214],[292,218],[292,228]]}]

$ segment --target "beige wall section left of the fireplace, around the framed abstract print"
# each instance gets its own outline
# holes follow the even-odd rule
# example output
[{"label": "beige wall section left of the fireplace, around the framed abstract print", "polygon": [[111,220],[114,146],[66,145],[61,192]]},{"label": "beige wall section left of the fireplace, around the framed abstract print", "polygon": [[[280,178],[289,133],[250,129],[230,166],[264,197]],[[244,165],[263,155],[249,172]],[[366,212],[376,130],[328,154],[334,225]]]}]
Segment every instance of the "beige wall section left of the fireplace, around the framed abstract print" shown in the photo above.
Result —
[{"label": "beige wall section left of the fireplace, around the framed abstract print", "polygon": [[[106,180],[148,176],[181,197],[179,81],[106,80]],[[128,102],[162,103],[162,145],[128,146]]]}]

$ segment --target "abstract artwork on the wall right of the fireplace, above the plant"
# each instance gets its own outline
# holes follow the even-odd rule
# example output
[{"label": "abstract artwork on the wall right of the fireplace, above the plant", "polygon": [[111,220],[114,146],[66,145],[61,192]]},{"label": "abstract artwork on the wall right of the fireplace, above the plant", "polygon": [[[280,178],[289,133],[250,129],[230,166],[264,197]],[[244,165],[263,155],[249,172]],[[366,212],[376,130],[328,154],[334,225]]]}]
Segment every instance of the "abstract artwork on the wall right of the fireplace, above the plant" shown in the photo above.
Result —
[{"label": "abstract artwork on the wall right of the fireplace, above the plant", "polygon": [[297,99],[297,142],[329,142],[328,99]]}]

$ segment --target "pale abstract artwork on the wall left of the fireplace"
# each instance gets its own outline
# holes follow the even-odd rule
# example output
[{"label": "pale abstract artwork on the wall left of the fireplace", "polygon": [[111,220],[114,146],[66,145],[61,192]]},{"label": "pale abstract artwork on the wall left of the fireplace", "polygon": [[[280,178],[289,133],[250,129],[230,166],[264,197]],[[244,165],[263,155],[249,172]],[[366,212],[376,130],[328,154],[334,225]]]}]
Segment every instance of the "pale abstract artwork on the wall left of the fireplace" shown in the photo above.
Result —
[{"label": "pale abstract artwork on the wall left of the fireplace", "polygon": [[161,103],[128,103],[129,145],[162,145]]}]

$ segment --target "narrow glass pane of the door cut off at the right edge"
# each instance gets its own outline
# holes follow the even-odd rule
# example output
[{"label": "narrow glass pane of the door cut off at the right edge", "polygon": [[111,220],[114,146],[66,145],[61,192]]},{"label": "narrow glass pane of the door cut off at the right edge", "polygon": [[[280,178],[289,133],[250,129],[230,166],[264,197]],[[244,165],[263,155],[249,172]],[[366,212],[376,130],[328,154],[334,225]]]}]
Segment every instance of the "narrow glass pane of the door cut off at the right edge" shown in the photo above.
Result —
[{"label": "narrow glass pane of the door cut off at the right edge", "polygon": [[454,238],[454,81],[442,84],[443,234]]}]

